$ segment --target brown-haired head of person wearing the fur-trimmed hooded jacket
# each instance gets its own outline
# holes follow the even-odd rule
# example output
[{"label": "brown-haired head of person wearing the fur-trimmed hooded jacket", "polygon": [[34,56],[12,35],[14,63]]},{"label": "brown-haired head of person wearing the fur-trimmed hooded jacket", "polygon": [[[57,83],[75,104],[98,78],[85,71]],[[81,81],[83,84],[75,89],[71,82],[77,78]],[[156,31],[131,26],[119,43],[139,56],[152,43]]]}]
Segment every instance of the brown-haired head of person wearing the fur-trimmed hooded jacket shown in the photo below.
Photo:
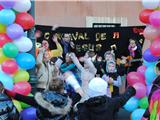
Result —
[{"label": "brown-haired head of person wearing the fur-trimmed hooded jacket", "polygon": [[60,78],[52,78],[49,83],[49,90],[55,91],[58,93],[64,93],[64,82]]}]

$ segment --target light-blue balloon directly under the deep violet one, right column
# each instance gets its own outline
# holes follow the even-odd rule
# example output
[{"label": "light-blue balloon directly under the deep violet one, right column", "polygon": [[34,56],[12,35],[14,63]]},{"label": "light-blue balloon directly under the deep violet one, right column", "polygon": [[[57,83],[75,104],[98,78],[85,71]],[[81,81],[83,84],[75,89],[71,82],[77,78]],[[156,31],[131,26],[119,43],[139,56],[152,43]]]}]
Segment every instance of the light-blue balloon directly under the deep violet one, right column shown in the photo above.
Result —
[{"label": "light-blue balloon directly under the deep violet one, right column", "polygon": [[146,84],[150,85],[156,78],[156,73],[154,66],[148,67],[147,70],[145,71],[145,78],[146,78]]}]

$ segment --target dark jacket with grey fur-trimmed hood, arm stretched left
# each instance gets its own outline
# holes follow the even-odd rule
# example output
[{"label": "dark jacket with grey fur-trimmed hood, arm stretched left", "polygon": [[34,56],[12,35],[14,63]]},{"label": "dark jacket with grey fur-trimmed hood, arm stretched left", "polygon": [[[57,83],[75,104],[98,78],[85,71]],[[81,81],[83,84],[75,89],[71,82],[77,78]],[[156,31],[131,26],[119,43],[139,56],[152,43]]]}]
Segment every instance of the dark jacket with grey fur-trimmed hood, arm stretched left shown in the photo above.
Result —
[{"label": "dark jacket with grey fur-trimmed hood, arm stretched left", "polygon": [[65,95],[53,91],[37,92],[34,97],[16,93],[14,99],[34,106],[40,120],[69,120],[72,101]]}]

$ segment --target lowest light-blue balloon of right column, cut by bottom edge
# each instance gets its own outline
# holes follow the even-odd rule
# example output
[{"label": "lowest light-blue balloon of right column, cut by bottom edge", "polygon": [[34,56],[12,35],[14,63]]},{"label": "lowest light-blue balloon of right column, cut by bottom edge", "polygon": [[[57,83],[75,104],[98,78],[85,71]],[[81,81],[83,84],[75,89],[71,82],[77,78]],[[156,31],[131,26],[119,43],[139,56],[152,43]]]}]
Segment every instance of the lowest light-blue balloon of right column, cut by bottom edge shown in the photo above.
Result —
[{"label": "lowest light-blue balloon of right column, cut by bottom edge", "polygon": [[132,120],[141,120],[142,117],[143,117],[144,112],[145,112],[145,109],[137,109],[137,110],[135,110],[131,115]]}]

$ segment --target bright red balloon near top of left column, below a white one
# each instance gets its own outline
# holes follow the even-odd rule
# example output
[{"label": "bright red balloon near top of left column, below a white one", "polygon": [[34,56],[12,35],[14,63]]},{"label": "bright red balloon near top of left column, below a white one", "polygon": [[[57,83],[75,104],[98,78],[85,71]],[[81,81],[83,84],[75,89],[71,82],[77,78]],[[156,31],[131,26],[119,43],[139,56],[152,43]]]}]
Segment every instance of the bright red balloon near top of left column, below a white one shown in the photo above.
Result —
[{"label": "bright red balloon near top of left column, below a white one", "polygon": [[22,12],[16,15],[16,23],[21,25],[23,29],[28,30],[34,26],[35,21],[30,14]]}]

